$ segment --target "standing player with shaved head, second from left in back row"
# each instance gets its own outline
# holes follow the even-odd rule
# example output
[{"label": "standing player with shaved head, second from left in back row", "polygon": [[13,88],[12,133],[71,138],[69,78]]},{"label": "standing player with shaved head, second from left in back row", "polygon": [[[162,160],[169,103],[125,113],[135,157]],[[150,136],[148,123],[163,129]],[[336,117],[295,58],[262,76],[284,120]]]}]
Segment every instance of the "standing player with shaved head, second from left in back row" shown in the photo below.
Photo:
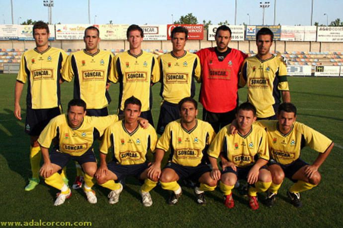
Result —
[{"label": "standing player with shaved head, second from left in back row", "polygon": [[[62,77],[70,82],[74,79],[74,98],[86,102],[86,114],[89,116],[108,115],[108,105],[111,102],[106,85],[114,82],[112,69],[113,54],[98,49],[100,42],[99,30],[90,26],[85,30],[84,42],[86,48],[72,53],[67,60]],[[74,189],[82,187],[83,172],[79,164]]]}]

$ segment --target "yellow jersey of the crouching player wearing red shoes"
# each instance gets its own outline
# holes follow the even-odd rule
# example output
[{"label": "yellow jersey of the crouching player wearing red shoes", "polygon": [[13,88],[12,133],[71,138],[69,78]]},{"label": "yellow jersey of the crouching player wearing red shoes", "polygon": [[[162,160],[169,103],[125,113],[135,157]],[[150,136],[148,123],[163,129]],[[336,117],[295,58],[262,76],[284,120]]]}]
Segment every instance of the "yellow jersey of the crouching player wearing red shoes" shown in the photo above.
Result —
[{"label": "yellow jersey of the crouching player wearing red shoes", "polygon": [[226,159],[237,167],[254,165],[257,159],[269,160],[266,132],[262,127],[253,125],[247,135],[239,132],[230,134],[230,126],[222,128],[214,138],[208,155],[218,158],[224,152]]}]

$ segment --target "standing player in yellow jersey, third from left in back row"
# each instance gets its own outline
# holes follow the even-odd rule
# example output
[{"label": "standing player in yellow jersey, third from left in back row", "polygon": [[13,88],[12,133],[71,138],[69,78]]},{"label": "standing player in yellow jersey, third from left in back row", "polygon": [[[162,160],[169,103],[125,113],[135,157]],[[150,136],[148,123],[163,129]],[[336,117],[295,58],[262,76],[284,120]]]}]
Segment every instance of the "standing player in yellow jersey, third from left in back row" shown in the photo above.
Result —
[{"label": "standing player in yellow jersey, third from left in back row", "polygon": [[159,64],[153,54],[142,51],[144,34],[141,27],[130,25],[126,36],[130,50],[119,53],[114,59],[115,82],[120,83],[119,114],[124,113],[125,100],[135,96],[142,102],[141,117],[154,125],[151,86],[160,80]]}]

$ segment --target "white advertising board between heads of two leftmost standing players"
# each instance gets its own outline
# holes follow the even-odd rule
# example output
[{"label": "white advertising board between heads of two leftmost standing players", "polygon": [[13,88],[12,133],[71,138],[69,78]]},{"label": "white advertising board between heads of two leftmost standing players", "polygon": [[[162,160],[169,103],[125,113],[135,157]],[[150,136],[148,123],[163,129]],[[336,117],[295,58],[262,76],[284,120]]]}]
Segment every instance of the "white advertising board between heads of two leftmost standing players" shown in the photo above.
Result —
[{"label": "white advertising board between heads of two leftmost standing players", "polygon": [[91,24],[57,24],[56,40],[83,40],[88,26]]}]

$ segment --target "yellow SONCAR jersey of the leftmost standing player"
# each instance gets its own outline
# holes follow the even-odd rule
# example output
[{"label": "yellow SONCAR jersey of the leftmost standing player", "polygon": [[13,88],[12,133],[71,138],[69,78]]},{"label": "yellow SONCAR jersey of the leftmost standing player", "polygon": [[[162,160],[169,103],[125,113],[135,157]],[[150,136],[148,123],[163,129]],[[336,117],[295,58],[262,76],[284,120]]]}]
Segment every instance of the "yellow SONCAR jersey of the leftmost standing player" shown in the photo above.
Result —
[{"label": "yellow SONCAR jersey of the leftmost standing player", "polygon": [[31,109],[51,109],[61,105],[61,73],[67,54],[49,46],[44,52],[32,49],[21,56],[17,80],[26,83],[26,104]]}]

